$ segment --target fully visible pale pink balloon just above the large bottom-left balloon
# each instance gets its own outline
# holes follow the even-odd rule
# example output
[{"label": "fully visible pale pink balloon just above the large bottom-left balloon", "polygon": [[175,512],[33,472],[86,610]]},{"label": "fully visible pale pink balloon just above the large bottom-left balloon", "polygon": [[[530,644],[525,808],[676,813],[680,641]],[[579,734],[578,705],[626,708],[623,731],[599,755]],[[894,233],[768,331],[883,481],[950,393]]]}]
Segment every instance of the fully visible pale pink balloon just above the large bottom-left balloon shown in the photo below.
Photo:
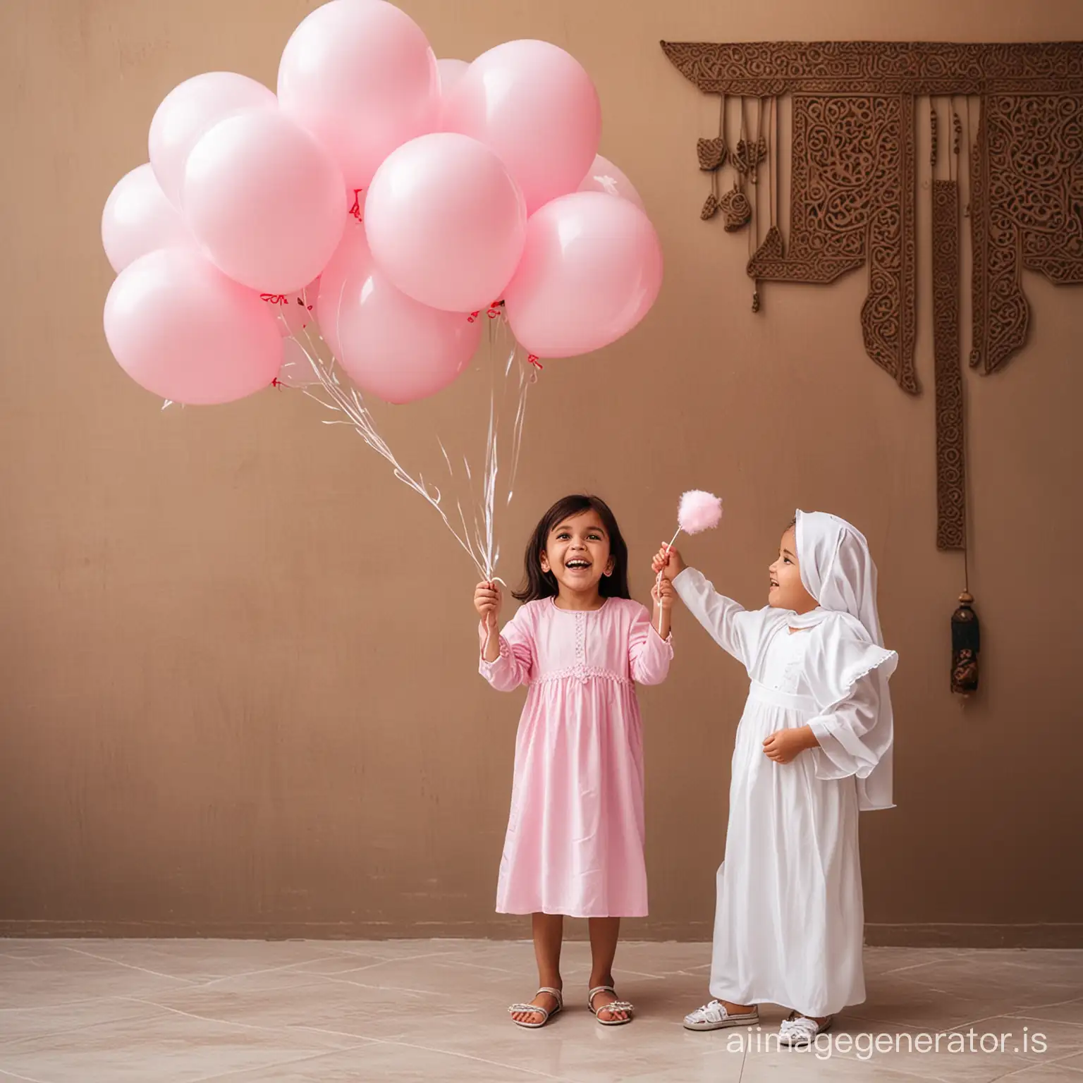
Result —
[{"label": "fully visible pale pink balloon just above the large bottom-left balloon", "polygon": [[220,121],[192,148],[184,217],[211,261],[261,292],[290,293],[323,271],[345,225],[342,174],[277,109]]}]

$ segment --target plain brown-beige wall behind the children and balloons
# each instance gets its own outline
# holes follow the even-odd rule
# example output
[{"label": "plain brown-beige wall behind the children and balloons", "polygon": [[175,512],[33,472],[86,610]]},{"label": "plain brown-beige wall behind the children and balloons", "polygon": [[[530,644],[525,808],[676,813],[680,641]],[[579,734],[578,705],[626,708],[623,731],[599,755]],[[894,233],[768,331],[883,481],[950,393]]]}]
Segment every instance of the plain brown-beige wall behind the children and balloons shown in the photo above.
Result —
[{"label": "plain brown-beige wall behind the children and balloons", "polygon": [[[99,218],[162,95],[226,68],[274,84],[302,0],[0,6],[0,931],[524,935],[493,914],[521,696],[474,671],[470,565],[431,510],[300,395],[160,413],[112,361]],[[692,484],[727,500],[689,556],[759,604],[795,506],[867,533],[893,680],[898,808],[862,821],[870,938],[1083,943],[1079,402],[1083,290],[1028,276],[1031,342],[969,378],[981,694],[947,690],[962,563],[934,547],[929,285],[908,399],[864,355],[864,277],[768,285],[699,220],[709,108],[670,40],[1083,38],[1072,0],[404,0],[439,55],[571,50],[602,149],[662,235],[647,323],[552,363],[503,532],[590,490],[651,547]],[[922,201],[922,221],[927,204]],[[928,263],[922,238],[923,265]],[[966,343],[964,343],[965,345]],[[968,377],[973,374],[968,374]],[[466,391],[445,409],[469,413]],[[426,415],[419,413],[418,417]],[[396,414],[409,444],[412,415]],[[465,425],[466,422],[464,422]],[[416,441],[417,431],[413,432]],[[744,675],[687,615],[648,689],[652,916],[706,937]],[[1075,923],[1075,924],[1071,924]]]}]

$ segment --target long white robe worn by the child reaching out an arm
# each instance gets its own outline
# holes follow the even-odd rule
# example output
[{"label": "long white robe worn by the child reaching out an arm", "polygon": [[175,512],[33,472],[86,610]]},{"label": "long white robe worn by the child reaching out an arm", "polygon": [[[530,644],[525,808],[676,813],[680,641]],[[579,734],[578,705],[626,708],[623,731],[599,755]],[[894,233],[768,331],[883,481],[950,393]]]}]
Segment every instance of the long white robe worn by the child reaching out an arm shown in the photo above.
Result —
[{"label": "long white robe worn by the child reaching out an arm", "polygon": [[[882,682],[897,664],[854,617],[818,609],[747,612],[695,569],[678,595],[752,689],[738,727],[710,993],[825,1016],[865,997],[864,909],[858,852],[861,791],[889,752],[877,741]],[[799,631],[791,631],[799,627]],[[764,754],[781,729],[809,726],[820,747],[788,764]],[[888,792],[890,782],[888,780]]]}]

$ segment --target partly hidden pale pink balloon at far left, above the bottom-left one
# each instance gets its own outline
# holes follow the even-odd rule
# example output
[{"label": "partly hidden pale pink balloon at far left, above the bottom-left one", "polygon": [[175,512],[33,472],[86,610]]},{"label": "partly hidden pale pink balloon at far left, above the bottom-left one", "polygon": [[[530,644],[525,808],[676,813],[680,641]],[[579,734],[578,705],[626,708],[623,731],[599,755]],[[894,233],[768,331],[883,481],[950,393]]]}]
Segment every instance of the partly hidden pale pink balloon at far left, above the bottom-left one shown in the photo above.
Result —
[{"label": "partly hidden pale pink balloon at far left, above the bottom-left one", "polygon": [[156,248],[195,248],[181,212],[166,198],[151,164],[117,181],[102,211],[102,246],[114,271]]}]

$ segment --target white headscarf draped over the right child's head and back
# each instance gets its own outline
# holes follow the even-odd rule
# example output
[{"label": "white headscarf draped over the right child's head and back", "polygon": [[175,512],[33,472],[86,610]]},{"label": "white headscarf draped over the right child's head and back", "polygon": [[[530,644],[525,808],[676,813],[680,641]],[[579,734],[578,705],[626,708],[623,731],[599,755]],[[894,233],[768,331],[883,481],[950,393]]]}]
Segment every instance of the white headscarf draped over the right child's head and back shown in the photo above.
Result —
[{"label": "white headscarf draped over the right child's head and back", "polygon": [[[864,764],[858,771],[859,807],[891,808],[893,718],[888,679],[898,657],[884,648],[876,611],[876,565],[869,543],[845,519],[822,511],[798,511],[796,533],[801,583],[820,609],[791,623],[798,627],[824,623],[823,642],[815,652],[821,664],[809,675],[817,701],[821,709],[830,712],[851,694],[862,677],[872,675],[876,680],[876,720],[849,743]],[[847,632],[845,623],[824,622],[824,610],[849,614],[860,622],[871,642],[862,642],[860,629]]]}]

